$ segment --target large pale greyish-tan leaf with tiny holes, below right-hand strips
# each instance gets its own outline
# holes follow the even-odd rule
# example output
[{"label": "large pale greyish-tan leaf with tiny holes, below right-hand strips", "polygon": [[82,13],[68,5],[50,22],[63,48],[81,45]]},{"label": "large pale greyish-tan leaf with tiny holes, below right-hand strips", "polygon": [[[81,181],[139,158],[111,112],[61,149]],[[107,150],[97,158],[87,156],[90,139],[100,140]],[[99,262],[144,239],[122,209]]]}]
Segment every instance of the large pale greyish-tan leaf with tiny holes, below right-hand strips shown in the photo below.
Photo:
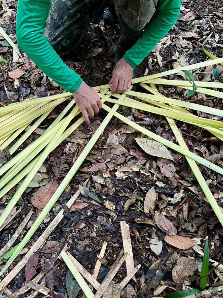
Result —
[{"label": "large pale greyish-tan leaf with tiny holes, below right-hand strips", "polygon": [[168,149],[161,143],[146,138],[135,138],[138,145],[152,156],[173,159]]}]

